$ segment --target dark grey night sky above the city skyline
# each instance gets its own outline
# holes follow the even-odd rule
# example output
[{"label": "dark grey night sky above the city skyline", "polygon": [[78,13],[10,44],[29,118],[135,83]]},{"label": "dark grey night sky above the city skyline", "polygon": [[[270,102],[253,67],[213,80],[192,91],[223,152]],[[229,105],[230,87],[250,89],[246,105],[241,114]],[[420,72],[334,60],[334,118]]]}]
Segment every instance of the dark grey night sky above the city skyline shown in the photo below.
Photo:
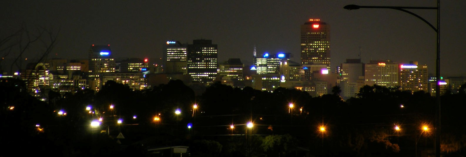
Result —
[{"label": "dark grey night sky above the city skyline", "polygon": [[[435,73],[436,33],[416,17],[366,6],[435,7],[436,0],[1,0],[0,37],[21,24],[61,28],[53,54],[87,58],[91,44],[110,44],[117,58],[162,56],[165,41],[218,44],[219,61],[258,53],[289,52],[300,61],[300,25],[319,18],[331,27],[331,63],[348,58],[418,61]],[[466,0],[442,0],[441,74],[466,75]],[[436,10],[410,10],[434,26]],[[34,57],[33,52],[29,52]],[[249,62],[246,62],[249,61]]]}]

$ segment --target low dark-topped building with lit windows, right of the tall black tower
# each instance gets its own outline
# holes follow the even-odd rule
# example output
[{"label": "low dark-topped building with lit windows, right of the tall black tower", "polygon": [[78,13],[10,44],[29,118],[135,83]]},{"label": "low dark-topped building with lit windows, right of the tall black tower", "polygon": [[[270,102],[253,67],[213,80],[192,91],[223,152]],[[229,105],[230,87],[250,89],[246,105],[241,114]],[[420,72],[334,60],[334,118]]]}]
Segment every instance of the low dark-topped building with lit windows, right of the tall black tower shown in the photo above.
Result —
[{"label": "low dark-topped building with lit windows, right of the tall black tower", "polygon": [[219,75],[222,80],[242,81],[244,64],[239,58],[230,58],[219,64]]}]

